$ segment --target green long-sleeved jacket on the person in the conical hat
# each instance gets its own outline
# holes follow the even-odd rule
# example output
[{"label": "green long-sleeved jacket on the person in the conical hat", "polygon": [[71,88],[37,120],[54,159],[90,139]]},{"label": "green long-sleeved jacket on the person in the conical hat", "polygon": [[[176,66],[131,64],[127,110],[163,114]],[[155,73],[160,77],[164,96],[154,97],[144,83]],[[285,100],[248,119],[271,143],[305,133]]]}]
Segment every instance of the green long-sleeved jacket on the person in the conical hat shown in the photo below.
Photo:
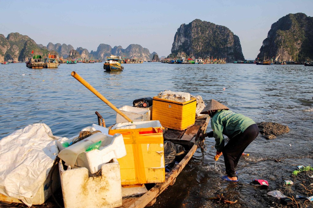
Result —
[{"label": "green long-sleeved jacket on the person in the conical hat", "polygon": [[225,144],[223,134],[231,139],[254,123],[252,119],[231,110],[218,110],[211,119],[215,149],[222,152]]}]

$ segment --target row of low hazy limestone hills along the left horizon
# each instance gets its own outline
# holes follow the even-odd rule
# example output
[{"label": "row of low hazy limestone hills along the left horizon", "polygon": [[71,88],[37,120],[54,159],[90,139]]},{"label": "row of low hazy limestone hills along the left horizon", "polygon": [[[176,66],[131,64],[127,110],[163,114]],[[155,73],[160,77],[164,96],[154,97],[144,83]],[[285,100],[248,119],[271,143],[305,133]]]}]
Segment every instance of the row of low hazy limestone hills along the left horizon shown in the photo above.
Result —
[{"label": "row of low hazy limestone hills along the left horizon", "polygon": [[[48,55],[49,51],[55,51],[58,56],[62,58],[67,58],[70,55],[70,51],[74,50],[73,46],[66,44],[53,44],[49,43],[47,46],[42,44],[36,44],[36,42],[26,35],[21,35],[18,32],[10,33],[7,37],[0,34],[0,62],[4,60],[14,60],[24,62],[31,57],[31,52],[33,50],[39,49],[44,55]],[[106,56],[114,54],[117,56],[127,57],[127,58],[140,58],[141,60],[151,60],[156,52],[150,53],[147,48],[143,48],[138,44],[131,44],[126,49],[122,46],[114,46],[112,48],[107,44],[100,44],[97,51],[88,51],[85,48],[78,47],[76,50],[72,51],[71,56],[77,56],[77,51],[81,58],[105,60]],[[73,57],[74,57],[73,56]]]}]

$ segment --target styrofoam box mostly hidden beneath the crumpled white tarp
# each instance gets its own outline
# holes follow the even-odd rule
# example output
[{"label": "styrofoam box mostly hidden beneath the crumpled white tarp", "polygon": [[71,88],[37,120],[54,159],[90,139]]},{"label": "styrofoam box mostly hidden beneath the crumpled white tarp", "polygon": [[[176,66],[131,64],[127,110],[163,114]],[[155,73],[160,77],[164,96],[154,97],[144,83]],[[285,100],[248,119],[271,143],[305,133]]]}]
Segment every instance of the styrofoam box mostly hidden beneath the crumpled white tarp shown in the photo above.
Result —
[{"label": "styrofoam box mostly hidden beneath the crumpled white tarp", "polygon": [[[58,169],[58,164],[54,164],[52,166],[52,168],[48,174],[48,177],[44,181],[44,184],[42,186],[40,186],[39,190],[35,194],[35,196],[32,200],[32,205],[43,204],[51,196],[51,194],[52,194],[51,188],[52,188],[52,191],[56,191],[61,186],[60,176],[58,173],[59,171],[55,168]],[[52,174],[52,180],[50,180],[51,174]],[[0,201],[13,202],[13,203],[23,203],[22,201],[20,201],[16,198],[13,198],[10,196],[5,196],[3,194],[0,194]]]}]

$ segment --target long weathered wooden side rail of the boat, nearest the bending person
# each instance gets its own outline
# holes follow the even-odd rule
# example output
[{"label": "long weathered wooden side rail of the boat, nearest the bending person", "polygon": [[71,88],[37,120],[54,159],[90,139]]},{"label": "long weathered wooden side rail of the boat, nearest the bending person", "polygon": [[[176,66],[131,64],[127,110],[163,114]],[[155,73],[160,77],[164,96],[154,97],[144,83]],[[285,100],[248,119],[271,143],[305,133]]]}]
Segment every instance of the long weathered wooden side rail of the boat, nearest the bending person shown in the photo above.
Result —
[{"label": "long weathered wooden side rail of the boat, nearest the bending person", "polygon": [[[202,120],[202,127],[200,128],[206,129],[208,122],[209,118],[207,118],[207,120]],[[199,123],[201,123],[201,121],[199,121]],[[199,131],[197,131],[197,133],[199,133]],[[200,135],[197,134],[197,136]],[[172,181],[176,180],[176,177],[179,175],[180,172],[182,172],[183,168],[187,165],[193,154],[196,152],[201,140],[202,138],[197,139],[197,142],[192,146],[192,148],[189,150],[187,155],[182,159],[182,161],[179,162],[177,166],[173,168],[172,171],[165,176],[165,182],[157,183],[154,187],[152,187],[142,196],[132,197],[131,199],[130,198],[123,199],[123,205],[121,207],[143,208],[146,205],[148,205],[151,201],[155,200],[155,198],[159,196],[167,188],[167,186],[173,185]],[[151,203],[150,205],[152,204],[153,203]]]}]

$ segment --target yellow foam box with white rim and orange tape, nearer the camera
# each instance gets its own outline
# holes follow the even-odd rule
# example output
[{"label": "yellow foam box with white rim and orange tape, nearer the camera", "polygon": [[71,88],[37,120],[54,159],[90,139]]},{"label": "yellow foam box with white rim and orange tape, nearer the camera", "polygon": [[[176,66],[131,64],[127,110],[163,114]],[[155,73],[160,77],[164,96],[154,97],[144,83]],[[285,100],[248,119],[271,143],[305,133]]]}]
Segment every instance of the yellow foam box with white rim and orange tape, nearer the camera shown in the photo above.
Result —
[{"label": "yellow foam box with white rim and orange tape, nearer the camera", "polygon": [[163,129],[159,121],[116,123],[109,134],[123,135],[126,156],[118,160],[121,184],[165,181]]}]

